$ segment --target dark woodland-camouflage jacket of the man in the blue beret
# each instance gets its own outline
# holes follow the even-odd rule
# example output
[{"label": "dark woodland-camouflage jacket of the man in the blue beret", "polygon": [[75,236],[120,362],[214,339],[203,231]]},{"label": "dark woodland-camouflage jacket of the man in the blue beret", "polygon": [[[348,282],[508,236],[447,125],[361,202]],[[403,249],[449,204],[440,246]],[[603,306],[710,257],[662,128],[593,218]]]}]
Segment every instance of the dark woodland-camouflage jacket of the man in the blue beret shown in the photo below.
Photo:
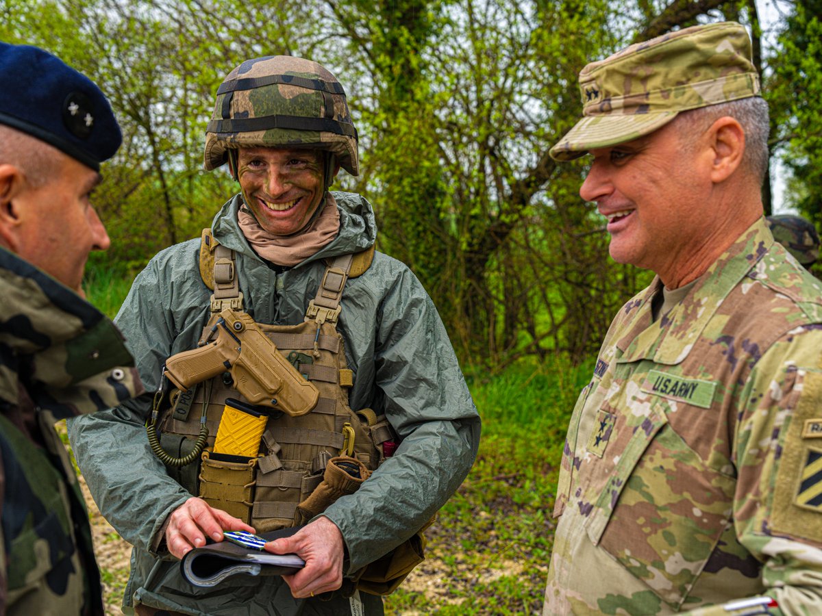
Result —
[{"label": "dark woodland-camouflage jacket of the man in the blue beret", "polygon": [[0,614],[103,614],[85,503],[54,422],[141,393],[112,322],[0,249]]}]

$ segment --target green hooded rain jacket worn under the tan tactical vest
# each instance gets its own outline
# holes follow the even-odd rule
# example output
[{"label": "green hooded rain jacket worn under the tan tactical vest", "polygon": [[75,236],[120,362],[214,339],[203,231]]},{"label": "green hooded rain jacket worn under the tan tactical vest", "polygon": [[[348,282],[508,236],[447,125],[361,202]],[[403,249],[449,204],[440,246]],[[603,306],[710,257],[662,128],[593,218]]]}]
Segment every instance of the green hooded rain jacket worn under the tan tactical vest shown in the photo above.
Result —
[{"label": "green hooded rain jacket worn under the tan tactical vest", "polygon": [[[367,200],[334,195],[337,237],[282,274],[242,236],[239,195],[215,217],[214,236],[236,251],[245,307],[258,323],[301,323],[325,272],[323,259],[374,244],[376,224]],[[158,387],[167,357],[196,346],[210,315],[199,247],[199,239],[191,240],[156,255],[117,316],[147,391]],[[348,549],[347,573],[408,539],[455,492],[476,457],[480,420],[436,308],[407,266],[376,252],[367,272],[349,279],[341,305],[338,330],[354,373],[350,406],[385,413],[401,439],[395,455],[355,494],[326,509]],[[191,494],[151,453],[144,428],[149,413],[145,396],[136,404],[77,418],[69,429],[100,511],[134,545],[125,605],[136,601],[231,616],[348,614],[348,600],[294,600],[279,577],[238,576],[215,589],[196,589],[182,580],[178,562],[155,550],[166,518]]]}]

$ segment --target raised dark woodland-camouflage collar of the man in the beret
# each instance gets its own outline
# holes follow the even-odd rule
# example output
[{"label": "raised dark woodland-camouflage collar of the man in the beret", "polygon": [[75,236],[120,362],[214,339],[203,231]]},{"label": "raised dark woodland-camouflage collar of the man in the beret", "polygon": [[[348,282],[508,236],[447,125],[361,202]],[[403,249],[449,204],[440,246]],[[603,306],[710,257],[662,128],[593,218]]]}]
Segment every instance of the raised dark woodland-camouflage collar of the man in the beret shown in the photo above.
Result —
[{"label": "raised dark woodland-camouflage collar of the man in the beret", "polygon": [[142,393],[131,354],[111,320],[68,287],[0,248],[0,402],[62,419]]}]

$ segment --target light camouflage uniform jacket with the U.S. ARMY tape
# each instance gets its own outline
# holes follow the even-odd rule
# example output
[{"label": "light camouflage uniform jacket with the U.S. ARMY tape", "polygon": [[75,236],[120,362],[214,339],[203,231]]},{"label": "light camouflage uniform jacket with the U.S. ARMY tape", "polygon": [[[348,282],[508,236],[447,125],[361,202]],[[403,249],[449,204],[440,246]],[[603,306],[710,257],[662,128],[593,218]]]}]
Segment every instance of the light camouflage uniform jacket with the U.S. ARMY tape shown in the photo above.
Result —
[{"label": "light camouflage uniform jacket with the U.S. ARMY tape", "polygon": [[822,287],[760,219],[652,323],[659,289],[571,417],[544,613],[822,614]]}]

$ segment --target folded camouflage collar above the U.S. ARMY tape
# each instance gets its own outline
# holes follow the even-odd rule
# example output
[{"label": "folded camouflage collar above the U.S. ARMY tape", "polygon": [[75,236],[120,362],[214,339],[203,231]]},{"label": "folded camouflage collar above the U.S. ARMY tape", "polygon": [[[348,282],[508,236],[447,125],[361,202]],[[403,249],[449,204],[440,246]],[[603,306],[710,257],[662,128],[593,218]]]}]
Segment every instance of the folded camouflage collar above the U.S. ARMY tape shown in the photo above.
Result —
[{"label": "folded camouflage collar above the U.S. ARMY tape", "polygon": [[658,364],[679,364],[688,356],[728,293],[773,245],[774,236],[764,218],[760,218],[710,265],[680,304],[652,323],[651,300],[662,287],[662,281],[654,278],[653,283],[623,309],[628,316],[621,329],[627,333],[617,341],[621,352],[617,361],[653,359]]}]

